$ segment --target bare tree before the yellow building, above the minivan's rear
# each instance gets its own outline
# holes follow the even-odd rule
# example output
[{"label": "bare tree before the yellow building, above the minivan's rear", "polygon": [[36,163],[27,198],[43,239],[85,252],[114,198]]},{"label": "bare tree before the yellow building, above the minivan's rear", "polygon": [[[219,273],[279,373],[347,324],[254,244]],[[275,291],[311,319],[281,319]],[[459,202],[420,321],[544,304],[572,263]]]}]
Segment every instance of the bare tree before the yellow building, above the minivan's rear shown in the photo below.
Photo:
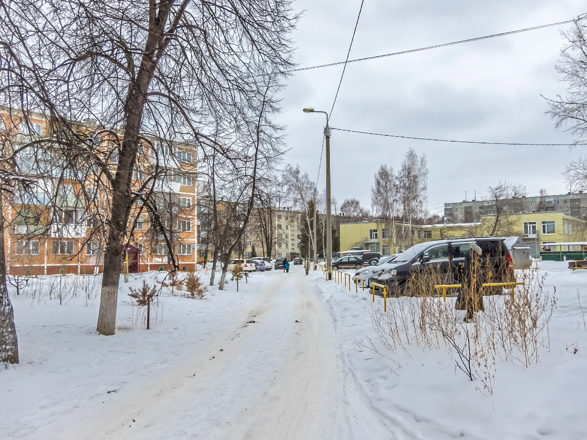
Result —
[{"label": "bare tree before the yellow building, above the minivan's rear", "polygon": [[516,226],[512,214],[522,211],[524,187],[500,181],[495,187],[489,187],[488,191],[489,199],[494,204],[491,206],[492,215],[484,218],[484,231],[490,236],[514,235]]}]

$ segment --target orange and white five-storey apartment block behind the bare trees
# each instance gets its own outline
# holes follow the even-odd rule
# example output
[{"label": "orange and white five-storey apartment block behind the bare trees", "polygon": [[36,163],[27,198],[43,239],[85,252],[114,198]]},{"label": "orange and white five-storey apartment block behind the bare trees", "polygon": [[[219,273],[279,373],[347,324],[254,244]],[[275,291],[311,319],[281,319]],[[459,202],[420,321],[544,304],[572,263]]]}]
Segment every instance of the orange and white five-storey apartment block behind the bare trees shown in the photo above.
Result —
[{"label": "orange and white five-storey apartment block behind the bare trees", "polygon": [[[107,229],[104,201],[109,197],[103,175],[116,172],[118,157],[115,148],[106,147],[111,140],[104,130],[98,134],[91,121],[76,123],[76,127],[80,136],[92,140],[97,154],[104,154],[101,170],[88,165],[87,170],[79,172],[59,154],[36,148],[36,140],[50,141],[53,135],[43,114],[25,117],[18,111],[0,109],[3,140],[11,148],[23,148],[16,160],[29,182],[26,191],[19,191],[17,185],[12,198],[5,197],[1,207],[9,225],[3,237],[9,273],[80,274],[98,273],[103,268]],[[149,199],[153,207],[146,209],[137,198],[131,208],[127,243],[123,246],[130,258],[125,254],[123,268],[128,264],[130,272],[170,269],[167,246],[171,245],[180,270],[194,270],[194,163],[193,145],[156,138],[142,145],[133,188],[141,188],[157,168]],[[157,215],[153,215],[155,211]]]}]

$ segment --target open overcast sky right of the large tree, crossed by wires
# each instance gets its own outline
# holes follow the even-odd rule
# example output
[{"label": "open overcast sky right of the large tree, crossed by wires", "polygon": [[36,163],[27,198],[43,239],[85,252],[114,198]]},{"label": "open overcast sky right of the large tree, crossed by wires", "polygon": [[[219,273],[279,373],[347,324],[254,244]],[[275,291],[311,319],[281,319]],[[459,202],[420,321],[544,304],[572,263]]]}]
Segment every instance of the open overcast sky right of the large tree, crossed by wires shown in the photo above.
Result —
[{"label": "open overcast sky right of the large tree, crossed by wires", "polygon": [[[297,0],[305,10],[294,32],[299,67],[344,61],[360,0]],[[416,49],[575,18],[587,12],[579,0],[491,2],[365,0],[350,59]],[[349,63],[330,126],[411,137],[515,143],[571,143],[545,111],[546,97],[564,94],[554,66],[564,39],[554,26],[447,48]],[[318,174],[324,114],[330,111],[342,65],[295,73],[287,80],[279,123],[291,148],[285,162]],[[373,174],[380,164],[399,169],[413,147],[426,154],[428,200],[433,213],[444,202],[487,196],[500,180],[564,193],[565,164],[585,154],[568,147],[508,147],[402,140],[333,130],[332,194],[339,204],[357,198],[370,208]],[[325,188],[322,160],[319,189]]]}]

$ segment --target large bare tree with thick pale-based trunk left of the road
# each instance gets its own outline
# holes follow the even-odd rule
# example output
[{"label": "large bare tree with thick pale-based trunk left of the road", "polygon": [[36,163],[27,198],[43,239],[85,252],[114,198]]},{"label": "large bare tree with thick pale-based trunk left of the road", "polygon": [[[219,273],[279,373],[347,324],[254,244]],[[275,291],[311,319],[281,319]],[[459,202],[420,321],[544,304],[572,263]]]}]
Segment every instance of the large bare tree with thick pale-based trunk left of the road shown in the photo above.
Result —
[{"label": "large bare tree with thick pale-based trunk left of the road", "polygon": [[[75,121],[95,119],[107,143],[101,154],[77,143],[73,152],[81,160],[116,155],[115,172],[100,168],[111,195],[97,330],[109,335],[122,244],[134,202],[144,199],[132,184],[140,145],[152,145],[152,138],[210,140],[218,123],[248,131],[249,116],[264,101],[258,96],[266,92],[266,74],[279,78],[291,66],[288,32],[296,17],[287,0],[91,6],[2,3],[0,86],[9,106],[48,114],[58,138],[79,138]],[[215,148],[230,160],[229,151]]]}]

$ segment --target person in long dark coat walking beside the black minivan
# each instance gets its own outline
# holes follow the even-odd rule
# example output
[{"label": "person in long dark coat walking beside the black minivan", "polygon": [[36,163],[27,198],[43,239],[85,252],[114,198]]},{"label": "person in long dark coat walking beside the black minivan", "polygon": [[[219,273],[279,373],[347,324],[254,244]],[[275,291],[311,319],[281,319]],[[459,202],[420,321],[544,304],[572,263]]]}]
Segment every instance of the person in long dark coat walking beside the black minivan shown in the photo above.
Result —
[{"label": "person in long dark coat walking beside the black minivan", "polygon": [[461,292],[458,294],[455,309],[467,310],[465,322],[473,321],[475,313],[485,310],[483,305],[483,283],[485,281],[485,265],[481,256],[481,248],[471,243],[465,255],[461,279]]}]

